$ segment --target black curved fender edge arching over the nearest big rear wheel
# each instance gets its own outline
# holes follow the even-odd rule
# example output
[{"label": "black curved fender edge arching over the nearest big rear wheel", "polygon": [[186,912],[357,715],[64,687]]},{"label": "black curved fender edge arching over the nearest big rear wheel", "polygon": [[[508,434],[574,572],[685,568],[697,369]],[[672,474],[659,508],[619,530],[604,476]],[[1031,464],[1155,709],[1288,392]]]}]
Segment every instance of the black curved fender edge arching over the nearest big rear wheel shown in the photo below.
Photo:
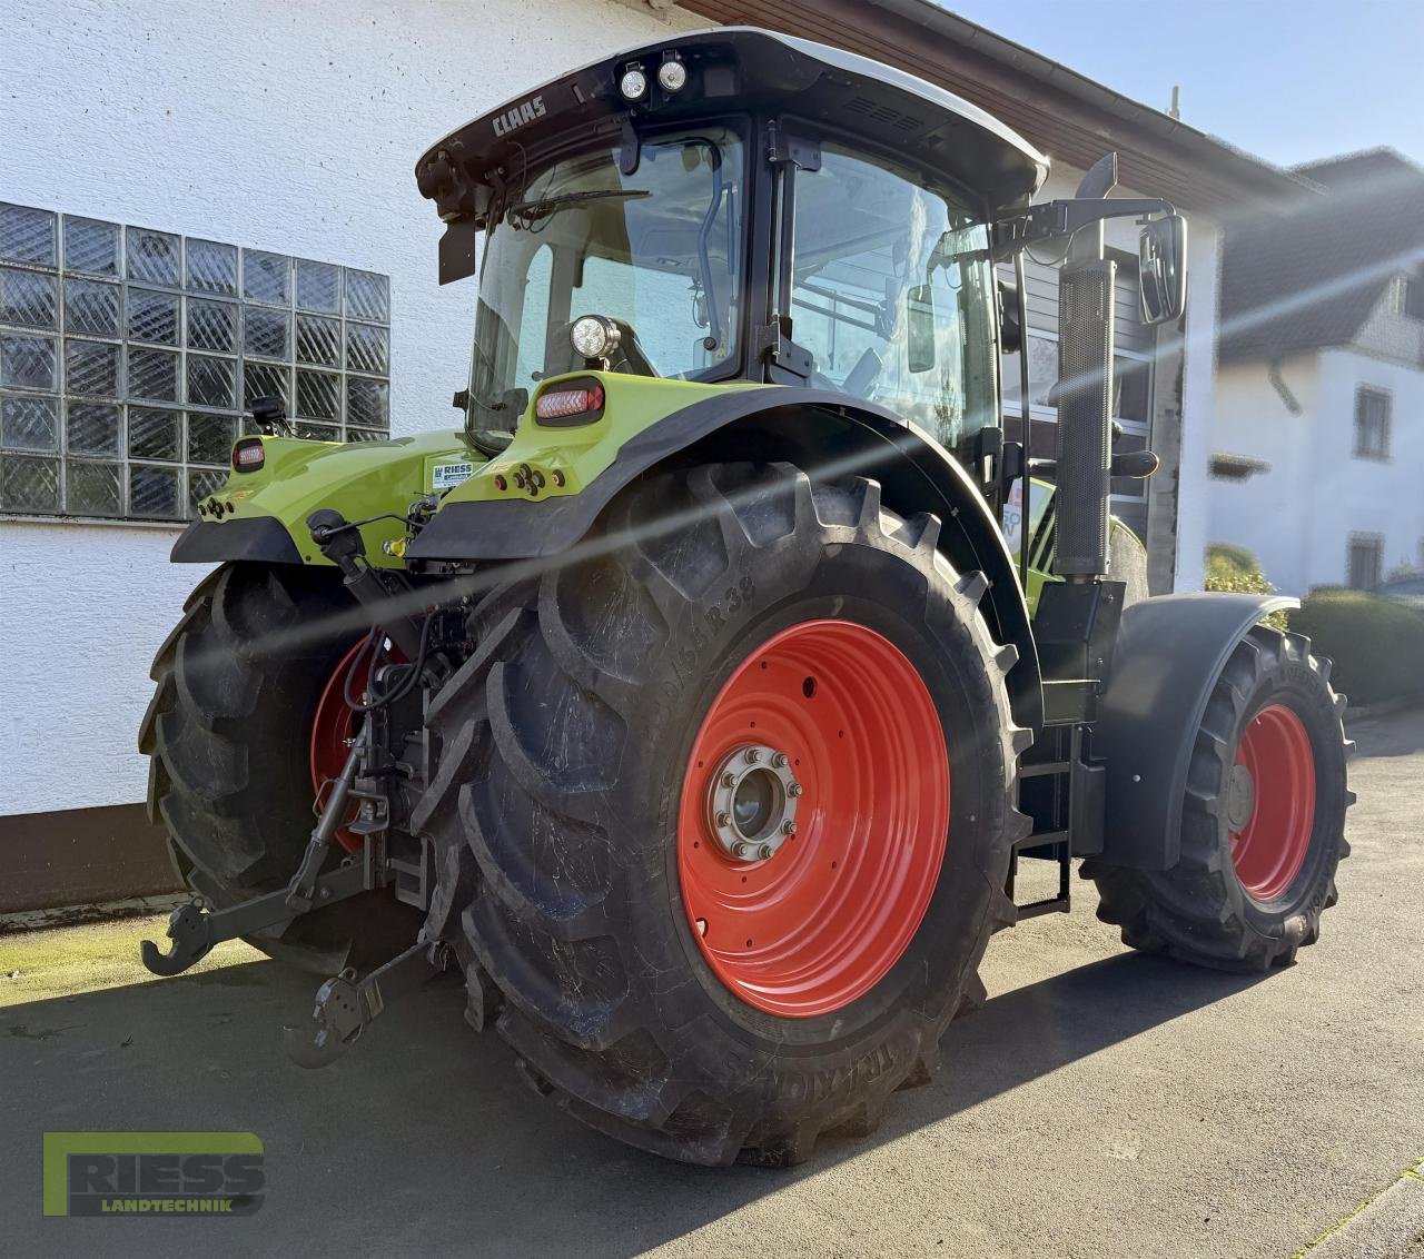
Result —
[{"label": "black curved fender edge arching over the nearest big rear wheel", "polygon": [[884,407],[843,393],[793,386],[719,390],[632,434],[575,494],[534,501],[456,501],[464,496],[451,496],[407,554],[466,563],[560,555],[592,528],[619,490],[649,469],[740,459],[787,460],[826,479],[873,477],[887,507],[901,516],[937,516],[940,550],[961,573],[984,573],[990,584],[980,607],[990,630],[1000,642],[1018,648],[1018,664],[1008,674],[1014,719],[1041,728],[1042,685],[1028,605],[987,501],[933,437]]}]

